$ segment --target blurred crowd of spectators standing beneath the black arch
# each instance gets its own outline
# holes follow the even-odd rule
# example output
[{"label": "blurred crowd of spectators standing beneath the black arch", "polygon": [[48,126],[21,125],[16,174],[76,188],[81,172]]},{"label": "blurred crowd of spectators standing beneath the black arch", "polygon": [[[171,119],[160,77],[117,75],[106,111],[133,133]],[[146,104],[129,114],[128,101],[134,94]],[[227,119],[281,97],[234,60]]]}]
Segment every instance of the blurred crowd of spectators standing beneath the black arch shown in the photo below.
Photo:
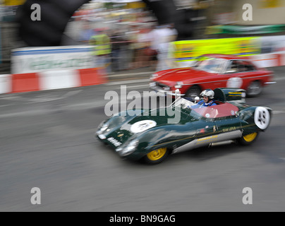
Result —
[{"label": "blurred crowd of spectators standing beneath the black arch", "polygon": [[[111,14],[115,15],[115,18],[106,16]],[[104,57],[108,58],[104,61],[104,66],[109,73],[145,67],[161,71],[173,67],[171,42],[177,37],[174,24],[159,25],[149,11],[138,13],[113,11],[109,14],[105,12],[104,18],[92,19],[83,13],[76,20],[81,20],[82,23],[78,35],[78,41],[82,44],[94,46],[102,44],[96,42],[96,37],[102,32],[109,37],[110,51],[109,54],[104,54]],[[102,66],[102,61],[100,65],[96,64],[99,61],[96,57],[95,66]]]}]

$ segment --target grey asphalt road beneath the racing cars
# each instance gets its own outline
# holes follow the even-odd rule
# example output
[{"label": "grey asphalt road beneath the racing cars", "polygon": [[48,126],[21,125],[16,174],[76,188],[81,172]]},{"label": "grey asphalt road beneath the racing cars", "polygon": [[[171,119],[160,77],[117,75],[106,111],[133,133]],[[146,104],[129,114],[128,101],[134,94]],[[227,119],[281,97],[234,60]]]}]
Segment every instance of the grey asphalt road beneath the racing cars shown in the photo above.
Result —
[{"label": "grey asphalt road beneath the racing cars", "polygon": [[142,93],[145,78],[0,95],[0,211],[284,211],[285,68],[274,71],[277,84],[246,100],[274,110],[253,145],[199,148],[153,166],[122,160],[94,138],[106,92]]}]

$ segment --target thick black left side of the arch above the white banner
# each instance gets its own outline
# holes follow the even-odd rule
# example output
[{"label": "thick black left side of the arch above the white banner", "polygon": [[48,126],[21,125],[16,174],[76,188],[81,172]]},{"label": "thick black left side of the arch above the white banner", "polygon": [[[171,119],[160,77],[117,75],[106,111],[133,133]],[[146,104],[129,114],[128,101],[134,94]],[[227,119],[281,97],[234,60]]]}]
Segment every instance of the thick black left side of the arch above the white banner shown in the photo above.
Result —
[{"label": "thick black left side of the arch above the white banner", "polygon": [[[68,21],[73,13],[90,0],[27,0],[18,7],[16,19],[19,36],[31,47],[59,46]],[[33,21],[32,4],[41,7],[41,20]]]}]

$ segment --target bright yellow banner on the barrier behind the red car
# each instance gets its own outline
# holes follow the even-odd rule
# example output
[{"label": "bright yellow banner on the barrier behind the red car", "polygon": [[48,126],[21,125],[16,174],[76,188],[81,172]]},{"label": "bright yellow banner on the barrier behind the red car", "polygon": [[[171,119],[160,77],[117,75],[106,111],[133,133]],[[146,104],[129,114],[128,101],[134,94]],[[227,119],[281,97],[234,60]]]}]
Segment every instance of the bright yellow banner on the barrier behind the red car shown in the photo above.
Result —
[{"label": "bright yellow banner on the barrier behind the red car", "polygon": [[236,54],[249,56],[261,51],[260,37],[232,37],[212,40],[174,42],[176,61],[189,61],[202,54]]}]

